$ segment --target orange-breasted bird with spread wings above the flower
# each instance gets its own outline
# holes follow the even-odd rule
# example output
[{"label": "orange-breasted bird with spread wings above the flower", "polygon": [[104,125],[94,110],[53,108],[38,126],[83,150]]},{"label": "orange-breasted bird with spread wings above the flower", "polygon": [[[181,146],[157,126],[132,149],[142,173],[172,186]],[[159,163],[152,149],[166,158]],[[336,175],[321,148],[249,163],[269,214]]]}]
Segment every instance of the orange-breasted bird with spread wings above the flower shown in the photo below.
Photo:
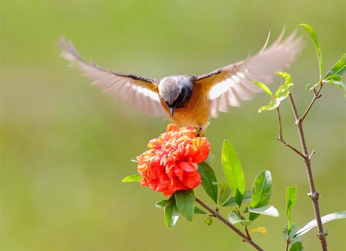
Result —
[{"label": "orange-breasted bird with spread wings above the flower", "polygon": [[193,126],[203,136],[210,118],[239,106],[261,89],[258,81],[273,82],[274,72],[289,68],[303,49],[297,30],[283,39],[285,28],[267,47],[269,34],[258,53],[201,75],[173,75],[162,79],[146,78],[111,71],[82,58],[71,41],[61,37],[60,56],[79,68],[93,85],[128,101],[153,117],[168,117],[179,127]]}]

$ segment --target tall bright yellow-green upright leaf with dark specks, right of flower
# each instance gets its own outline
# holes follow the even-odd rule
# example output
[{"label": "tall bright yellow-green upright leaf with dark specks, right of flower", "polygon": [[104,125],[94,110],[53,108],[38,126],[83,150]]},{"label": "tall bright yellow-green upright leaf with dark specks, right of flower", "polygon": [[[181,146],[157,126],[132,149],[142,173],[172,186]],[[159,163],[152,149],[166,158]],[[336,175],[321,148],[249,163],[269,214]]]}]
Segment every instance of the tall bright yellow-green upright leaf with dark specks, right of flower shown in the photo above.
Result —
[{"label": "tall bright yellow-green upright leaf with dark specks, right of flower", "polygon": [[233,191],[234,200],[240,207],[245,191],[244,173],[237,153],[228,140],[223,141],[221,163],[227,183]]}]

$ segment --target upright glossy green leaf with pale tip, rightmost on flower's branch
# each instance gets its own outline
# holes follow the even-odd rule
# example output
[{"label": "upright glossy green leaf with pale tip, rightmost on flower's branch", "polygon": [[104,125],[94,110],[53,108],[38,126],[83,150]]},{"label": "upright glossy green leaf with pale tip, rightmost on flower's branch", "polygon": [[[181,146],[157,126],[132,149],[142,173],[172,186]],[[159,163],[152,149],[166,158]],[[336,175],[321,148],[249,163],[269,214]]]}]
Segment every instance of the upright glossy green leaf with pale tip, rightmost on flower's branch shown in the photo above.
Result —
[{"label": "upright glossy green leaf with pale tip, rightmost on flower's branch", "polygon": [[[256,177],[252,185],[252,201],[251,208],[256,209],[268,205],[271,197],[273,183],[271,180],[270,171],[262,170]],[[250,211],[250,209],[249,209]],[[249,219],[254,220],[259,214],[250,211]]]}]

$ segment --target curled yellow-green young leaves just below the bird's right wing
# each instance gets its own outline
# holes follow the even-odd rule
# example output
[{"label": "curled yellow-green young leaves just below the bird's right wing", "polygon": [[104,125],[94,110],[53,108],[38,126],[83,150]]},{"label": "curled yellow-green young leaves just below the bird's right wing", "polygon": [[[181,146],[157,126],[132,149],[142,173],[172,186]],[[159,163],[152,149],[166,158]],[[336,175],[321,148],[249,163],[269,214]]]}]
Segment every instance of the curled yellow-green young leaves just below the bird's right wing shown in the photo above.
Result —
[{"label": "curled yellow-green young leaves just below the bird's right wing", "polygon": [[[261,106],[259,108],[258,110],[259,113],[262,111],[270,111],[279,107],[280,102],[288,97],[289,89],[291,86],[293,86],[293,84],[291,83],[292,77],[290,74],[286,72],[276,72],[276,74],[285,79],[285,84],[279,86],[279,88],[275,92],[275,95],[271,95],[271,99],[267,105]],[[259,82],[256,82],[256,83],[253,82],[253,83],[261,87],[268,94],[271,93],[271,91],[265,84],[259,83]],[[267,90],[269,90],[269,92]]]}]

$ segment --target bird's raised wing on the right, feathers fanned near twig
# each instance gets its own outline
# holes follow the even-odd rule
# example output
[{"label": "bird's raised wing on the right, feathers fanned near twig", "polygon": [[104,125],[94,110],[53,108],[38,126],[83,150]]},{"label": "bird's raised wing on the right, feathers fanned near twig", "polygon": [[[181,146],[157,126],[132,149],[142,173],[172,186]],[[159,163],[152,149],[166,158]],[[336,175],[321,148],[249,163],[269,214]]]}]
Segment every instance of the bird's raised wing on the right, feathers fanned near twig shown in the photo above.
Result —
[{"label": "bird's raised wing on the right, feathers fanned near twig", "polygon": [[228,106],[239,106],[240,101],[249,100],[253,93],[261,91],[252,81],[271,83],[275,71],[290,67],[303,49],[302,38],[296,38],[294,31],[282,40],[285,29],[278,39],[266,47],[269,35],[262,49],[255,55],[240,62],[221,67],[211,73],[196,76],[196,84],[203,84],[209,90],[209,115],[216,118],[217,112],[226,112]]}]

